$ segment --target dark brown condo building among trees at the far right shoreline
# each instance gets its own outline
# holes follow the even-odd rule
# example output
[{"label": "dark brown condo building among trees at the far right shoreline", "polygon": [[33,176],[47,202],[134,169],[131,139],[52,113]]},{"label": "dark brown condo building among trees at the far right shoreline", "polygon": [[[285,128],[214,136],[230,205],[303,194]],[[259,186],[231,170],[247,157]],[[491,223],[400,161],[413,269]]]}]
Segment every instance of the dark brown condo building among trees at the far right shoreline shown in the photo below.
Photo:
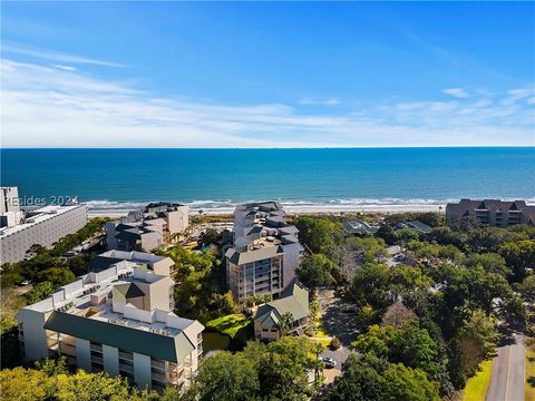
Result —
[{"label": "dark brown condo building among trees at the far right shoreline", "polygon": [[453,224],[460,218],[475,217],[480,224],[507,227],[514,224],[535,225],[535,205],[525,200],[460,199],[446,206],[446,222]]}]

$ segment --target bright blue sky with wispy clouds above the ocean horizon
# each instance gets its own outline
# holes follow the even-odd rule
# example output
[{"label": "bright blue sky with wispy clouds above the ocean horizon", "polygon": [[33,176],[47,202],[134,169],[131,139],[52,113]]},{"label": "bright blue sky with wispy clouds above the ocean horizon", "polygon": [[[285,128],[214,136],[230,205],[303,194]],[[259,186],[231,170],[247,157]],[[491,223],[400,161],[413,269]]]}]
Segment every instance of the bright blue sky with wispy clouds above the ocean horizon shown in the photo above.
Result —
[{"label": "bright blue sky with wispy clouds above the ocean horizon", "polygon": [[534,145],[534,3],[3,2],[3,147]]}]

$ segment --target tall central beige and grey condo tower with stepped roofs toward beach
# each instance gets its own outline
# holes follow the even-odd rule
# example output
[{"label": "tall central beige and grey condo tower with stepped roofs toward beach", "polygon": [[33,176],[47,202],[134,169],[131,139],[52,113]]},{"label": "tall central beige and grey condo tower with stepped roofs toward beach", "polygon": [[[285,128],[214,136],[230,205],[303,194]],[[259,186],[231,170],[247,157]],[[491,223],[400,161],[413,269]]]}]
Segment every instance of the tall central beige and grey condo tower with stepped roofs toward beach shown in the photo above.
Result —
[{"label": "tall central beige and grey condo tower with stepped roofs toward beach", "polygon": [[225,254],[226,281],[236,302],[257,294],[278,299],[293,283],[303,252],[298,234],[276,202],[236,207],[234,246]]}]

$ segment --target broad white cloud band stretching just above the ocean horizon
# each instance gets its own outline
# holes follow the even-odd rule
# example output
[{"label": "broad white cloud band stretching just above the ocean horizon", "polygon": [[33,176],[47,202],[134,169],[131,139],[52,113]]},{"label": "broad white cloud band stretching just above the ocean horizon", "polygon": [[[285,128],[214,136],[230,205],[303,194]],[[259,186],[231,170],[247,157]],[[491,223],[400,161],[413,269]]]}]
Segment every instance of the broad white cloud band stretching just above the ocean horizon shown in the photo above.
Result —
[{"label": "broad white cloud band stretching just above the ocean horizon", "polygon": [[[533,145],[524,104],[386,102],[334,116],[281,104],[157,98],[80,71],[2,60],[3,147]],[[510,96],[507,94],[505,96]]]}]

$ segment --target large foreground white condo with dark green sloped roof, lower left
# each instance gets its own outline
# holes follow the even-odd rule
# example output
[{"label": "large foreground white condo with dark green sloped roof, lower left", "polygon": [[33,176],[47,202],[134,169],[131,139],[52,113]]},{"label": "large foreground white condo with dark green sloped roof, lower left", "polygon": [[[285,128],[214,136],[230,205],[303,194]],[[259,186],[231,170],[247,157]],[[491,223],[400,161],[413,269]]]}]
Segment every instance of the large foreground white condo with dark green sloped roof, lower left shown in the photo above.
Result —
[{"label": "large foreground white condo with dark green sloped roof, lower left", "polygon": [[88,372],[121,375],[139,388],[186,389],[202,356],[204,326],[172,312],[169,258],[130,256],[19,310],[23,356],[65,355]]}]

